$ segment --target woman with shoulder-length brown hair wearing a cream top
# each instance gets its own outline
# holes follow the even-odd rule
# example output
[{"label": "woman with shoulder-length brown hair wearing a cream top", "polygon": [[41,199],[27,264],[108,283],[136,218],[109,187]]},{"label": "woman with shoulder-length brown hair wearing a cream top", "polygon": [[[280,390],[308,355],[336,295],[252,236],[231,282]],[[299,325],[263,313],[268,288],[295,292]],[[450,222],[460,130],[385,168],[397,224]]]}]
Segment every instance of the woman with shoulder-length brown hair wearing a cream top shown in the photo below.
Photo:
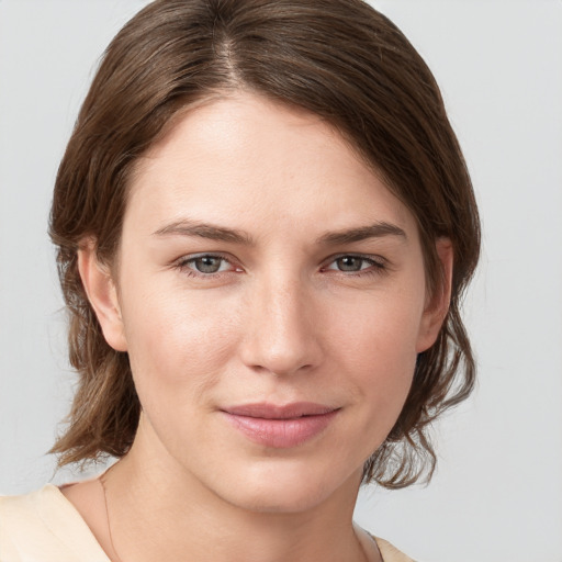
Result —
[{"label": "woman with shoulder-length brown hair wearing a cream top", "polygon": [[361,482],[430,477],[470,393],[470,179],[432,76],[358,0],[158,0],[115,37],[52,237],[80,384],[0,560],[408,560]]}]

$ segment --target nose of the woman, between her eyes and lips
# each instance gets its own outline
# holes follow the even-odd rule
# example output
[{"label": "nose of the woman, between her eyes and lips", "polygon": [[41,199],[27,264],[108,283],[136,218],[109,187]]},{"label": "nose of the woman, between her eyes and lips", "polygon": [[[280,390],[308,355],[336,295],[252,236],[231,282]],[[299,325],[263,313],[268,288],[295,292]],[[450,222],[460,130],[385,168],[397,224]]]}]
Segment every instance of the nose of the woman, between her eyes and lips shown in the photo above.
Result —
[{"label": "nose of the woman, between her eyes and lips", "polygon": [[241,360],[276,375],[317,367],[323,352],[315,304],[297,277],[270,276],[256,283],[241,342]]}]

